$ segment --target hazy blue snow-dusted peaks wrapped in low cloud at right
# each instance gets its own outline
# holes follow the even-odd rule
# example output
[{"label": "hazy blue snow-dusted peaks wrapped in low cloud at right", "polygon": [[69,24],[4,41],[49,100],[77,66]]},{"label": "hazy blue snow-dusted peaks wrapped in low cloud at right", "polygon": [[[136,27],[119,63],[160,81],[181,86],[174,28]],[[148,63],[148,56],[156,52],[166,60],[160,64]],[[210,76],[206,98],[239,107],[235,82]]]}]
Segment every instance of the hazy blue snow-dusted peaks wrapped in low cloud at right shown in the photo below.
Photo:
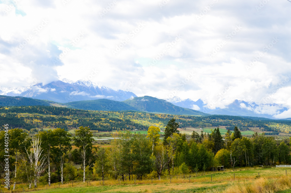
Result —
[{"label": "hazy blue snow-dusted peaks wrapped in low cloud at right", "polygon": [[278,115],[283,111],[288,110],[288,108],[279,104],[256,104],[254,102],[246,102],[242,100],[235,100],[225,108],[216,109],[207,108],[206,104],[201,99],[192,101],[191,99],[182,100],[179,97],[173,97],[165,100],[180,107],[191,108],[212,115],[251,116],[274,119],[274,115]]}]

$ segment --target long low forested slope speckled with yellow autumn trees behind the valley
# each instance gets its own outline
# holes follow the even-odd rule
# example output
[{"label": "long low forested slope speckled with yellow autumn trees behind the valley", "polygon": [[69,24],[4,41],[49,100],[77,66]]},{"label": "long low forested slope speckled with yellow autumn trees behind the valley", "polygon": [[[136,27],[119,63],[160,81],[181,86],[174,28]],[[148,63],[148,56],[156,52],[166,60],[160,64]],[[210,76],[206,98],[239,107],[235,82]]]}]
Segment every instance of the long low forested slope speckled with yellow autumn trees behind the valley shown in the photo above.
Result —
[{"label": "long low forested slope speckled with yellow autumn trees behind the valley", "polygon": [[248,130],[259,127],[263,131],[291,133],[290,120],[253,120],[229,115],[168,115],[136,111],[88,111],[52,106],[0,107],[0,126],[9,124],[11,128],[56,128],[63,129],[86,126],[92,130],[147,130],[150,126],[164,129],[171,118],[175,118],[180,128],[220,127]]}]

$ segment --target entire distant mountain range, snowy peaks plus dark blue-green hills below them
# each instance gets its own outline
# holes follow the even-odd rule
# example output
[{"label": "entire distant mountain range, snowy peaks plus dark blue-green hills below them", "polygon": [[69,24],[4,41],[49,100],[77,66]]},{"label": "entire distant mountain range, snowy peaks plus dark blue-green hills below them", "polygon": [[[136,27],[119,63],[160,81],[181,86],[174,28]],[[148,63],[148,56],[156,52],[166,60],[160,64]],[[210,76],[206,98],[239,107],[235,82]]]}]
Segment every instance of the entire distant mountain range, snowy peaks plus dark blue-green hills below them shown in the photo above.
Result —
[{"label": "entire distant mountain range, snowy peaks plus dark blue-green hills below them", "polygon": [[[135,110],[167,114],[184,115],[234,115],[251,116],[274,119],[273,115],[282,113],[288,108],[278,104],[256,104],[235,100],[225,108],[210,109],[201,99],[180,99],[173,97],[157,99],[144,96],[137,97],[132,92],[113,90],[109,87],[86,80],[72,81],[68,79],[54,81],[43,85],[42,83],[19,88],[0,87],[0,95],[17,96],[18,98],[0,98],[0,106],[22,105],[49,105],[48,101],[54,101],[60,106],[79,108],[83,110]],[[32,101],[32,99],[48,101]],[[107,100],[106,100],[107,99]],[[123,101],[123,102],[122,102]],[[52,103],[51,103],[52,104]],[[56,104],[54,104],[56,105]],[[288,120],[291,118],[287,118]]]}]

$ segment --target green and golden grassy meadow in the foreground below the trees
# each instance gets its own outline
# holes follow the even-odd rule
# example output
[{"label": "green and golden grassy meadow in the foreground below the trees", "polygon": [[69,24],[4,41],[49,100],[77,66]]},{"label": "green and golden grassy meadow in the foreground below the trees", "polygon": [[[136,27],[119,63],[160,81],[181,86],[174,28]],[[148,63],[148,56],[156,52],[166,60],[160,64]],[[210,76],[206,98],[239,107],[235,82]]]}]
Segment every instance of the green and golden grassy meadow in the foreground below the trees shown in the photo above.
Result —
[{"label": "green and golden grassy meadow in the foreground below the trees", "polygon": [[[287,176],[286,176],[287,171]],[[134,177],[135,178],[135,177]],[[190,180],[190,181],[189,181]],[[227,171],[210,172],[203,171],[197,173],[178,176],[162,176],[161,180],[148,176],[147,179],[131,180],[124,182],[121,180],[105,180],[87,182],[68,182],[59,186],[59,183],[52,184],[51,187],[39,185],[28,189],[27,184],[18,184],[13,192],[36,192],[36,193],[72,193],[72,192],[152,192],[152,193],[172,193],[172,192],[291,192],[291,168],[241,168],[237,171],[228,169]],[[47,189],[46,189],[47,188]],[[3,187],[1,187],[3,192]],[[5,192],[8,192],[7,190]],[[11,192],[11,191],[9,191]]]}]

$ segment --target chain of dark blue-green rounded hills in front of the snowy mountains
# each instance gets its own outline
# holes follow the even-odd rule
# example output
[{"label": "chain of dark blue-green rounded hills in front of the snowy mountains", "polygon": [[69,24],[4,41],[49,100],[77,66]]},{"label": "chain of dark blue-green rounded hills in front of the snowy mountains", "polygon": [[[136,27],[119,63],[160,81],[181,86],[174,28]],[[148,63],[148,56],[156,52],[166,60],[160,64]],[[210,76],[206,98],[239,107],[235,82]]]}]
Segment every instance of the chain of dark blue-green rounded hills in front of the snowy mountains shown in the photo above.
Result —
[{"label": "chain of dark blue-green rounded hills in front of the snowy mountains", "polygon": [[102,111],[132,110],[171,115],[208,115],[197,110],[175,106],[172,103],[169,103],[165,100],[149,96],[135,97],[127,99],[125,101],[97,99],[90,101],[73,101],[69,103],[56,103],[54,101],[0,95],[0,106],[58,106],[82,110],[102,110]]}]

